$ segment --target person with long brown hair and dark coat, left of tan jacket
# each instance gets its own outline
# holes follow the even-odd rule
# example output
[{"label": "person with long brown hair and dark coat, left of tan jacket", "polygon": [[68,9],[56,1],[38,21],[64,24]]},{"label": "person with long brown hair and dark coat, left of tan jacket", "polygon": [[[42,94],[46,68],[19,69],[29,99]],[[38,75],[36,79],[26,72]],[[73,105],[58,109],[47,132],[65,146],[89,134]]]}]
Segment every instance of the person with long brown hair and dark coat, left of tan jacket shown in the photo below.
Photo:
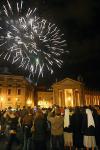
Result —
[{"label": "person with long brown hair and dark coat, left of tan jacket", "polygon": [[34,149],[46,150],[47,121],[40,109],[36,111],[32,128]]}]

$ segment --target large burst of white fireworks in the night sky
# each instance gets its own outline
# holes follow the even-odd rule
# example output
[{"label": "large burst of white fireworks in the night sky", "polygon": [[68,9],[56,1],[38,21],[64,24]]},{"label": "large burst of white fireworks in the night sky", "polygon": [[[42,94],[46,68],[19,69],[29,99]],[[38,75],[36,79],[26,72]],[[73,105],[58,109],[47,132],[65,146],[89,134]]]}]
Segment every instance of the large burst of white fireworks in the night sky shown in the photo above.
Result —
[{"label": "large burst of white fireworks in the night sky", "polygon": [[3,5],[0,21],[0,56],[17,63],[33,76],[43,76],[45,69],[51,74],[53,66],[61,67],[61,55],[66,41],[55,24],[36,15],[36,8],[23,15],[23,1],[13,9],[10,2]]}]

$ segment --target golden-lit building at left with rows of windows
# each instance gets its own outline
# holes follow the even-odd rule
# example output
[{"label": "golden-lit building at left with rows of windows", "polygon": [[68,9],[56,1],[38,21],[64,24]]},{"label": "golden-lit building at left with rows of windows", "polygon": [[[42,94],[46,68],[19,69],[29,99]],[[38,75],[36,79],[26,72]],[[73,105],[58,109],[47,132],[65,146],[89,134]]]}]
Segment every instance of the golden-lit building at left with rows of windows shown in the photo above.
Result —
[{"label": "golden-lit building at left with rows of windows", "polygon": [[0,108],[34,105],[34,87],[23,76],[0,74]]}]

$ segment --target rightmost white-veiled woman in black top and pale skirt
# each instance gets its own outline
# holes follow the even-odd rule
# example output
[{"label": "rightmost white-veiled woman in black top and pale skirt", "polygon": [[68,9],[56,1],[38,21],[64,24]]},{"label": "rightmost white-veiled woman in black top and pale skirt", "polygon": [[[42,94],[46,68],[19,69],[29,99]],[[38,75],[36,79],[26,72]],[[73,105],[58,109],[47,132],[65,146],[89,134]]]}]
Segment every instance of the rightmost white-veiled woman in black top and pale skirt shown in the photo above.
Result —
[{"label": "rightmost white-veiled woman in black top and pale skirt", "polygon": [[88,150],[89,148],[96,148],[96,139],[95,139],[95,121],[92,114],[92,111],[89,108],[86,108],[83,115],[82,121],[82,132],[84,134],[83,144],[84,147]]}]

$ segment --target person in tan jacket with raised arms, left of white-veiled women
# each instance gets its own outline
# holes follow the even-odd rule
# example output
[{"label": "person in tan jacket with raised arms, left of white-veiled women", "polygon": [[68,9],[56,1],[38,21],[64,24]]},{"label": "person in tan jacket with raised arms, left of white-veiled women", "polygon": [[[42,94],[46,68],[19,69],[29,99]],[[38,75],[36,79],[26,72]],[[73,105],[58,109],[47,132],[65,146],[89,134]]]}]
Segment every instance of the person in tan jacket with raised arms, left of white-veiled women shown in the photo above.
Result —
[{"label": "person in tan jacket with raised arms, left of white-veiled women", "polygon": [[52,150],[64,150],[64,118],[59,108],[53,108],[48,114],[47,120],[51,123],[51,144]]}]

